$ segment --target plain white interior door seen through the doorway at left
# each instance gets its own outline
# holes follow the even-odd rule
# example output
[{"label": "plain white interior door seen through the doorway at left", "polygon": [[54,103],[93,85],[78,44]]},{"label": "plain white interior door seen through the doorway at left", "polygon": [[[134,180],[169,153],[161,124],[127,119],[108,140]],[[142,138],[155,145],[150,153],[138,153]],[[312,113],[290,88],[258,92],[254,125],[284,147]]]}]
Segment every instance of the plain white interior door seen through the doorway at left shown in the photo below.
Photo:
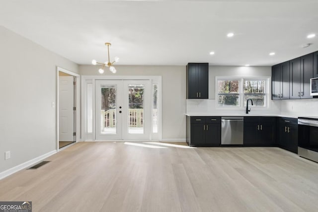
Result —
[{"label": "plain white interior door seen through the doorway at left", "polygon": [[74,141],[74,76],[59,76],[59,141]]}]

